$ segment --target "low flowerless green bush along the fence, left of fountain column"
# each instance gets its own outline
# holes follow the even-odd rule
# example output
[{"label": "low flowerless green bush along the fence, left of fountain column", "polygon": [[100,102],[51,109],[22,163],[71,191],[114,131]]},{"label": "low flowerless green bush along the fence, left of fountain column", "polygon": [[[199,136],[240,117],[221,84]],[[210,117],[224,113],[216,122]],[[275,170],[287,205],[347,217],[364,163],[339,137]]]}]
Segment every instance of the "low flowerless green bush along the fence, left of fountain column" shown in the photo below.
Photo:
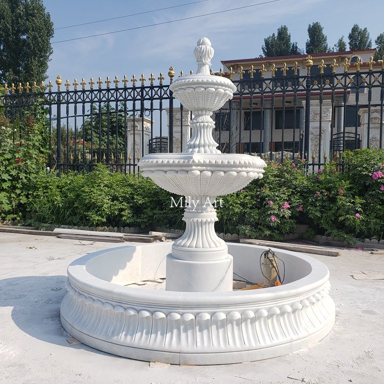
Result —
[{"label": "low flowerless green bush along the fence, left of fountain column", "polygon": [[182,211],[169,208],[167,191],[151,179],[111,172],[105,165],[84,176],[46,174],[37,186],[29,208],[38,222],[141,228],[181,222]]}]

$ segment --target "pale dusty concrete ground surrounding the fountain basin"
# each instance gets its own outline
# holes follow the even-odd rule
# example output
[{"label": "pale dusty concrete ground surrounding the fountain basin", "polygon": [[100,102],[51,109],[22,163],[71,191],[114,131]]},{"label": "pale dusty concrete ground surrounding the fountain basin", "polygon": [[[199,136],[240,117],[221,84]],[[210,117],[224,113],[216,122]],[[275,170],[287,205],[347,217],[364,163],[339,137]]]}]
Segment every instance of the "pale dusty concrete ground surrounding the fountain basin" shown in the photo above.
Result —
[{"label": "pale dusty concrete ground surrounding the fountain basin", "polygon": [[351,276],[362,269],[384,271],[384,255],[347,248],[339,257],[312,255],[330,269],[336,324],[311,348],[243,364],[150,367],[71,346],[60,324],[68,264],[120,245],[0,232],[0,383],[384,382],[384,280]]}]

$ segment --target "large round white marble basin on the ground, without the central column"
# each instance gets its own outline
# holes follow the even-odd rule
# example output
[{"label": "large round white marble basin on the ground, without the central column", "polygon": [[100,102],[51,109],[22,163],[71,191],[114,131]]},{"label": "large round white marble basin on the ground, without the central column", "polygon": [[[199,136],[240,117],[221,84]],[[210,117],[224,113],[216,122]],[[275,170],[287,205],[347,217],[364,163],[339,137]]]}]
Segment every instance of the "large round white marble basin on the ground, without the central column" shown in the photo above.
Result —
[{"label": "large round white marble basin on the ground, without the central column", "polygon": [[[212,293],[131,285],[164,278],[171,247],[171,242],[123,246],[74,261],[60,307],[62,326],[98,350],[191,365],[284,355],[313,345],[332,329],[328,268],[303,253],[273,249],[286,267],[278,287]],[[259,262],[266,249],[228,243],[234,273],[262,282]]]}]

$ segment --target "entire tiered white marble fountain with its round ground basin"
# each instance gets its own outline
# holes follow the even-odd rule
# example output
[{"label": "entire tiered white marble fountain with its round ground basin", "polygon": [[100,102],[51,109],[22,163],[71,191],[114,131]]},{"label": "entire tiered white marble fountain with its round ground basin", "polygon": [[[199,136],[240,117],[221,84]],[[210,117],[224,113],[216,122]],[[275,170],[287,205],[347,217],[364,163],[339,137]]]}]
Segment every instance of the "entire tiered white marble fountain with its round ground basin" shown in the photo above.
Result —
[{"label": "entire tiered white marble fountain with its round ground basin", "polygon": [[[143,176],[190,198],[185,232],[174,243],[111,248],[73,262],[61,323],[96,349],[171,364],[228,364],[308,347],[335,320],[324,264],[274,249],[286,265],[284,284],[232,291],[233,272],[263,281],[259,259],[266,248],[218,238],[210,203],[262,178],[266,164],[217,149],[211,115],[236,88],[227,78],[209,74],[214,50],[207,38],[198,41],[194,53],[196,75],[179,77],[170,86],[193,111],[190,140],[181,154],[148,155],[139,163]],[[132,285],[163,278],[166,290]]]}]

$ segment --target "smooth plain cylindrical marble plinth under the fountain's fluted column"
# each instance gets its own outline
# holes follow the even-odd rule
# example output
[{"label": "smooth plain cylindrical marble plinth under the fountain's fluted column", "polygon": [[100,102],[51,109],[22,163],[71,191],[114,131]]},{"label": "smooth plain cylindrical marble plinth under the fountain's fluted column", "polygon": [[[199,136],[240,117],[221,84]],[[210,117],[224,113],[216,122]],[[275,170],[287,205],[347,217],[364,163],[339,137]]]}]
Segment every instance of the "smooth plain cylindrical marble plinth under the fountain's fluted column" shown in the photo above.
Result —
[{"label": "smooth plain cylindrical marble plinth under the fountain's fluted column", "polygon": [[233,259],[187,261],[167,255],[166,290],[177,292],[232,291]]}]

